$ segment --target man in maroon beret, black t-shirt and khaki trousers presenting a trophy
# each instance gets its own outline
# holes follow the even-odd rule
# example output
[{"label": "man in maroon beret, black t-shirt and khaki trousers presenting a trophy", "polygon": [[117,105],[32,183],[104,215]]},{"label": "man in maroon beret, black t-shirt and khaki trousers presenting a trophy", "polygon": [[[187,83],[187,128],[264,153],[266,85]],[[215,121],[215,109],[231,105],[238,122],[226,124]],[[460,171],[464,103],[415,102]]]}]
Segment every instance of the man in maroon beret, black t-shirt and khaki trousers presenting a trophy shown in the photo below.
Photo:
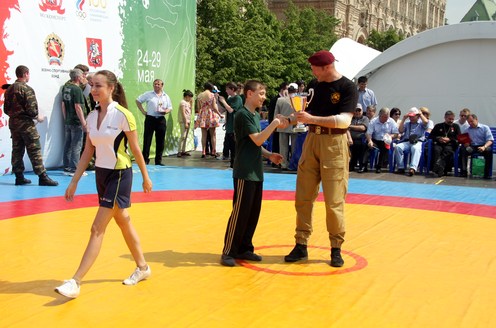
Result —
[{"label": "man in maroon beret, black t-shirt and khaki trousers presenting a trophy", "polygon": [[307,243],[312,233],[312,212],[319,194],[324,191],[327,231],[331,244],[333,267],[344,264],[341,245],[344,242],[344,201],[348,191],[349,148],[346,131],[358,102],[353,82],[334,67],[334,56],[326,50],[314,53],[308,61],[317,78],[314,96],[307,110],[296,113],[291,124],[308,125],[296,179],[296,245],[284,260],[296,262],[308,258]]}]

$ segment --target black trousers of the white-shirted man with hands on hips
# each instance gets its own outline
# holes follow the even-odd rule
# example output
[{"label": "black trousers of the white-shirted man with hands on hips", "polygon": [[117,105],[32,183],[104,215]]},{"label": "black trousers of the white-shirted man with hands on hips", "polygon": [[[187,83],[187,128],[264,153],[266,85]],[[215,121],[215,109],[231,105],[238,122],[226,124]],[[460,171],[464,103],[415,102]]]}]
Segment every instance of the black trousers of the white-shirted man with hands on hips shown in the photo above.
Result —
[{"label": "black trousers of the white-shirted man with hands on hips", "polygon": [[155,133],[155,164],[162,163],[162,153],[165,146],[165,131],[167,130],[167,122],[165,116],[150,116],[145,118],[145,131],[143,133],[143,157],[145,163],[150,162],[150,147],[152,145],[153,134]]}]

